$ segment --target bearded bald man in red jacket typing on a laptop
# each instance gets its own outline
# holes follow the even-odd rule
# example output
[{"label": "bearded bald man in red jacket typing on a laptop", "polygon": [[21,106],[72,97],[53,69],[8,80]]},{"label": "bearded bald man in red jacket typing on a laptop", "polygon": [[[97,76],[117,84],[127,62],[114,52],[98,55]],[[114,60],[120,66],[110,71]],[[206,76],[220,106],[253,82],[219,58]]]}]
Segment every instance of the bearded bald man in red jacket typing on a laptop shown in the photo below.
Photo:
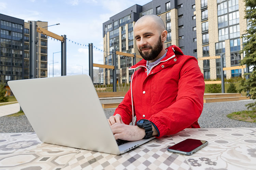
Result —
[{"label": "bearded bald man in red jacket typing on a laptop", "polygon": [[[196,58],[174,45],[163,48],[167,31],[156,15],[141,17],[134,24],[134,37],[144,60],[129,68],[134,70],[131,87],[108,119],[115,138],[160,138],[200,128],[204,78]],[[129,125],[135,115],[140,121]]]}]

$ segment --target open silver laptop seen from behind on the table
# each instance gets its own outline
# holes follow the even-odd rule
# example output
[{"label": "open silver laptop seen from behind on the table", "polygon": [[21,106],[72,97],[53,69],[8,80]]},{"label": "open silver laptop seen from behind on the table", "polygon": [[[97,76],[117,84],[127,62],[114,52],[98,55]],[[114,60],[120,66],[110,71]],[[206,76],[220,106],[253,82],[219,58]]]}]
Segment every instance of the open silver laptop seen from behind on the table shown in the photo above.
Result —
[{"label": "open silver laptop seen from behind on the table", "polygon": [[119,155],[155,138],[118,146],[88,75],[16,80],[8,85],[42,142]]}]

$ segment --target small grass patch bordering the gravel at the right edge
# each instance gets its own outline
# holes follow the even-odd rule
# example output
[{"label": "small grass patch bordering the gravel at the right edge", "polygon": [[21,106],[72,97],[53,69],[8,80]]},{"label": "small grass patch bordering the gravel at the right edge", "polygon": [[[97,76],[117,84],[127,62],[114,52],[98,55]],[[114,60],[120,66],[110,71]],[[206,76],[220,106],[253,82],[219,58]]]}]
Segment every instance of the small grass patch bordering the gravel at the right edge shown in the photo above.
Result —
[{"label": "small grass patch bordering the gravel at the right edge", "polygon": [[255,111],[233,112],[233,113],[228,114],[227,117],[230,119],[234,119],[234,120],[256,123],[256,112]]}]

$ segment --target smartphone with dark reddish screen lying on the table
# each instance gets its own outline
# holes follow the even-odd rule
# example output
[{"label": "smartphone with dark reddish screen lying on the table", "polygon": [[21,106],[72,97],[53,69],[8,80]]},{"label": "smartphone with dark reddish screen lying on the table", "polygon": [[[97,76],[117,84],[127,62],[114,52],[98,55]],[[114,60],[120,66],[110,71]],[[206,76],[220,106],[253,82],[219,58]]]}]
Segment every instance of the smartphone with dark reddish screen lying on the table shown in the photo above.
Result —
[{"label": "smartphone with dark reddish screen lying on the table", "polygon": [[208,141],[198,139],[186,139],[170,148],[167,148],[168,152],[178,153],[182,155],[192,155],[199,149],[208,145]]}]

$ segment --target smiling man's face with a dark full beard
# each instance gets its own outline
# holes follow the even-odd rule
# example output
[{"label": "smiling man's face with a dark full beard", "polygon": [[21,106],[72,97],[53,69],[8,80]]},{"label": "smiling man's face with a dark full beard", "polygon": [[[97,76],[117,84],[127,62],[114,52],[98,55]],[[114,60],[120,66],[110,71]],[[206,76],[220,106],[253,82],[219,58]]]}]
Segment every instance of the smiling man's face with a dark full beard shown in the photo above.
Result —
[{"label": "smiling man's face with a dark full beard", "polygon": [[163,48],[161,35],[155,23],[147,21],[134,26],[134,35],[140,55],[144,60],[154,60]]}]

